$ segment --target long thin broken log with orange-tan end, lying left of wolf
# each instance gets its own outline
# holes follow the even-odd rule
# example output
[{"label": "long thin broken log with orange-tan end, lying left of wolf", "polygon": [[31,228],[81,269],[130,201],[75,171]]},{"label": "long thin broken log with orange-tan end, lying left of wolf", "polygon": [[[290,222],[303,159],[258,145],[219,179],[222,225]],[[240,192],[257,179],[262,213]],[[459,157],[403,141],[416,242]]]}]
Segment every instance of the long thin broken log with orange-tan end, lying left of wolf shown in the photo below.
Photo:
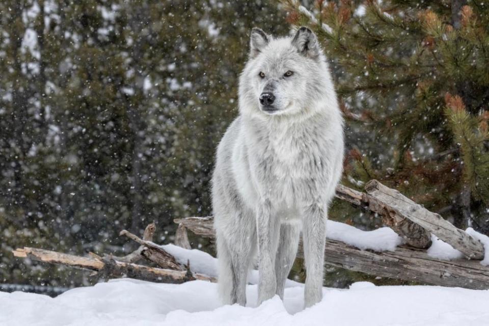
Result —
[{"label": "long thin broken log with orange-tan end, lying left of wolf", "polygon": [[139,280],[159,283],[183,283],[193,280],[206,280],[215,282],[214,278],[200,274],[192,274],[187,270],[171,270],[155,267],[124,263],[111,259],[100,258],[97,255],[91,257],[80,257],[50,250],[36,248],[19,248],[13,251],[15,257],[29,258],[31,260],[47,262],[51,264],[65,265],[79,269],[92,270],[97,276],[103,278],[128,277]]}]

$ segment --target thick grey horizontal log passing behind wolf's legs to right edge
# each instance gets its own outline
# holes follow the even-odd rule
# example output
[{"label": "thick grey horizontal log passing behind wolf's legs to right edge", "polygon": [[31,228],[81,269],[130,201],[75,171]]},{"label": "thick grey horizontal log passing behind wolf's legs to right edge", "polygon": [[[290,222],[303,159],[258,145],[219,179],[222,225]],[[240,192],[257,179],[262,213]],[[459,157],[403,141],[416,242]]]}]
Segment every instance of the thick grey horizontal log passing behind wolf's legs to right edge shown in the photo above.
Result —
[{"label": "thick grey horizontal log passing behind wolf's legs to right edge", "polygon": [[[212,217],[176,219],[192,232],[214,238]],[[303,257],[302,244],[298,257]],[[489,268],[475,260],[445,261],[425,252],[408,248],[373,252],[360,250],[343,242],[327,240],[324,262],[329,265],[380,277],[395,278],[442,286],[489,289]]]}]

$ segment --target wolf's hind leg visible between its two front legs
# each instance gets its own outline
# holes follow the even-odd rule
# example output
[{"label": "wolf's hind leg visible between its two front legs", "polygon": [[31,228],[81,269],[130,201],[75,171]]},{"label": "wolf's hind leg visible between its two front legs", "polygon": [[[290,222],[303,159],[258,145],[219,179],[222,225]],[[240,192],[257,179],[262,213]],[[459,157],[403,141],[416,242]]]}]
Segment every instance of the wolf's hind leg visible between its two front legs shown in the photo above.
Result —
[{"label": "wolf's hind leg visible between its two front legs", "polygon": [[282,224],[280,226],[280,242],[275,259],[275,275],[277,277],[276,294],[284,299],[285,281],[297,255],[297,246],[301,235],[301,226]]}]

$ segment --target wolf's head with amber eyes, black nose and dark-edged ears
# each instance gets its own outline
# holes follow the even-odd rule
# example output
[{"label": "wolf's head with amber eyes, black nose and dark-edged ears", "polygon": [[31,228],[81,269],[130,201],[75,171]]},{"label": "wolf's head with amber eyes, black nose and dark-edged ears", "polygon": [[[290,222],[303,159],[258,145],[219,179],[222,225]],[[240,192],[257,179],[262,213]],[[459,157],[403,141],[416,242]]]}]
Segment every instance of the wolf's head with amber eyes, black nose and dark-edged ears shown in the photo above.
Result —
[{"label": "wolf's head with amber eyes, black nose and dark-edged ears", "polygon": [[301,27],[293,37],[274,38],[254,28],[249,60],[239,80],[243,114],[305,115],[321,110],[336,96],[316,35]]}]

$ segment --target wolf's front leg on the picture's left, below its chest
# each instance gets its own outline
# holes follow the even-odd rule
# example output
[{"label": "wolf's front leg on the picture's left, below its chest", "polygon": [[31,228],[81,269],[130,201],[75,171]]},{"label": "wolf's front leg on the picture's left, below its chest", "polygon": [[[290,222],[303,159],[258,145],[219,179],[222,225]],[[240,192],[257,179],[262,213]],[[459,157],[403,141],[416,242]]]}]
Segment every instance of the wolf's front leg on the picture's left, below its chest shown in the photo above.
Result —
[{"label": "wolf's front leg on the picture's left, below its chest", "polygon": [[269,200],[262,201],[257,208],[256,230],[258,236],[258,304],[275,295],[275,255],[279,240],[279,221],[271,212]]}]

